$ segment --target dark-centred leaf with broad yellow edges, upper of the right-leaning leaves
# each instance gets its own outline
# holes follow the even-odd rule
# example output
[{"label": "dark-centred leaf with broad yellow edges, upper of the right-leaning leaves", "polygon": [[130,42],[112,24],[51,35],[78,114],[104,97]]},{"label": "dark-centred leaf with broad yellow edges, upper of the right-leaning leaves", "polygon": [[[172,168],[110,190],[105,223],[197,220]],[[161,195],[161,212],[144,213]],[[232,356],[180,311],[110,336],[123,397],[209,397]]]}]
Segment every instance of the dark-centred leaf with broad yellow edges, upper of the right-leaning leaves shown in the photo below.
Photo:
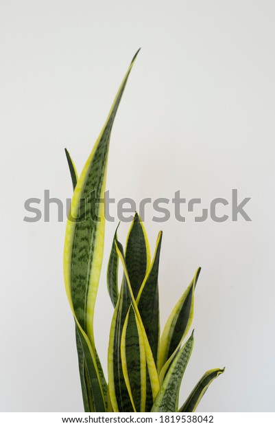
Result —
[{"label": "dark-centred leaf with broad yellow edges, upper of the right-leaning leaves", "polygon": [[163,381],[165,373],[176,352],[180,348],[184,337],[187,335],[193,320],[194,291],[200,275],[200,268],[195,272],[195,276],[187,290],[174,307],[165,324],[163,335],[160,339],[160,382]]}]

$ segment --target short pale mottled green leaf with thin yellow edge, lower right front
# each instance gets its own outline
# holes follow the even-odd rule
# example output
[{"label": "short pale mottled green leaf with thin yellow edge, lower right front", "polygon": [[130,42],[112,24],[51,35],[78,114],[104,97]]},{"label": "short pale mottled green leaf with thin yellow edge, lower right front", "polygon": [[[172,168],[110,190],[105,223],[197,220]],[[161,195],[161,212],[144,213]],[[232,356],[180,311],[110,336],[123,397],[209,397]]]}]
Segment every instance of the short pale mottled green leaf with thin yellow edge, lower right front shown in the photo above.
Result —
[{"label": "short pale mottled green leaf with thin yellow edge, lower right front", "polygon": [[178,410],[180,383],[191,357],[192,349],[193,333],[171,363],[163,384],[160,386],[160,391],[152,407],[152,412],[176,412]]}]

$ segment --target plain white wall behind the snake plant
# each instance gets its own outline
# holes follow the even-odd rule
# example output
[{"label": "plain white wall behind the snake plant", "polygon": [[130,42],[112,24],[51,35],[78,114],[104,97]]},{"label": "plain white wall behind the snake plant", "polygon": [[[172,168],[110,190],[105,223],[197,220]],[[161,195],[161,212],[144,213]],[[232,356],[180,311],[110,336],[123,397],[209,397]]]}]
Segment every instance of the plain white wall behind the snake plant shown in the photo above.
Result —
[{"label": "plain white wall behind the snake plant", "polygon": [[[162,324],[202,267],[181,401],[206,370],[226,366],[200,411],[275,411],[274,15],[272,0],[0,1],[1,411],[83,410],[65,223],[54,205],[49,223],[24,222],[24,202],[45,189],[71,197],[64,147],[80,171],[139,47],[112,132],[111,196],[139,203],[180,190],[206,208],[230,201],[232,188],[252,197],[250,223],[194,223],[190,214],[180,223],[170,206],[159,224],[147,210],[152,251],[164,232]],[[95,320],[104,368],[116,223],[106,224]]]}]

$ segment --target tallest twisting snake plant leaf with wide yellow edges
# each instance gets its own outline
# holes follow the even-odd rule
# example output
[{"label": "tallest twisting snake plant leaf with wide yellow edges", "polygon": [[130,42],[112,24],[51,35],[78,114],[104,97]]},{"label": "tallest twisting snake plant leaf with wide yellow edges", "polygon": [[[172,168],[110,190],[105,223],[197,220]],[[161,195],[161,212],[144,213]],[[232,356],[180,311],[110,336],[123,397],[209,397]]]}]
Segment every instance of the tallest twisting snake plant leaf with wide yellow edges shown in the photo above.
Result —
[{"label": "tallest twisting snake plant leaf with wide yellow edges", "polygon": [[[97,199],[104,199],[110,133],[134,59],[76,183],[64,244],[65,287],[79,331],[88,376],[93,384],[95,411],[105,411],[107,404],[106,382],[96,355],[93,334],[95,298],[101,271],[105,227],[104,204],[97,203]],[[88,352],[91,352],[90,356]]]}]

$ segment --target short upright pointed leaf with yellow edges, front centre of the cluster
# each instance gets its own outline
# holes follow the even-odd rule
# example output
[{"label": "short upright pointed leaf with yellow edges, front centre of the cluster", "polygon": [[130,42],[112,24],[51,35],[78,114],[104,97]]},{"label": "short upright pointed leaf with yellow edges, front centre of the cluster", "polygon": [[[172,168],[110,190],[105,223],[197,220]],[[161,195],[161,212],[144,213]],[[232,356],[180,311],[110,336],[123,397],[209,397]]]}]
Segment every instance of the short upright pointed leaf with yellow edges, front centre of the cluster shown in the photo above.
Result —
[{"label": "short upright pointed leaf with yellow edges, front centre of the cluster", "polygon": [[135,412],[145,411],[146,355],[141,326],[130,305],[121,335],[122,371]]}]

